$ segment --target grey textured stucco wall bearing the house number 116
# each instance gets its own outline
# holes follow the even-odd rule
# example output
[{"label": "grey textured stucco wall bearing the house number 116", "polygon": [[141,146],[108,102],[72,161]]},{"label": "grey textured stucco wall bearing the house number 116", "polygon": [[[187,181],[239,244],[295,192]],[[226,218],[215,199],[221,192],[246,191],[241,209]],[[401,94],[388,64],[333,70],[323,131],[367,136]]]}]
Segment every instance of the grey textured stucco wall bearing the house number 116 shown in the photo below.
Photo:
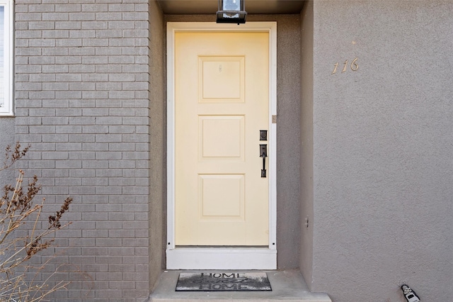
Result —
[{"label": "grey textured stucco wall bearing the house number 116", "polygon": [[314,1],[306,281],[333,301],[405,301],[403,283],[422,301],[452,300],[452,11],[452,1]]}]

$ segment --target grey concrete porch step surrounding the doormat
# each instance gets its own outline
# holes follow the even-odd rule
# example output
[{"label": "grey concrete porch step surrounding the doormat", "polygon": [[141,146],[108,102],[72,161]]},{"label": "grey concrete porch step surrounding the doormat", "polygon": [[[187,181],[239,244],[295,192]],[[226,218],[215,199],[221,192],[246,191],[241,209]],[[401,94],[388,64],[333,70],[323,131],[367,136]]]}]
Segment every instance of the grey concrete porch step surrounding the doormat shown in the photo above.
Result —
[{"label": "grey concrete porch step surrounding the doormat", "polygon": [[[311,293],[302,275],[297,270],[265,271],[272,291],[175,291],[180,272],[197,271],[165,271],[161,274],[159,284],[149,296],[153,302],[192,302],[198,300],[223,301],[236,300],[246,302],[258,301],[302,301],[332,302],[327,293]],[[213,271],[203,271],[213,272]],[[224,271],[222,271],[224,272]]]}]

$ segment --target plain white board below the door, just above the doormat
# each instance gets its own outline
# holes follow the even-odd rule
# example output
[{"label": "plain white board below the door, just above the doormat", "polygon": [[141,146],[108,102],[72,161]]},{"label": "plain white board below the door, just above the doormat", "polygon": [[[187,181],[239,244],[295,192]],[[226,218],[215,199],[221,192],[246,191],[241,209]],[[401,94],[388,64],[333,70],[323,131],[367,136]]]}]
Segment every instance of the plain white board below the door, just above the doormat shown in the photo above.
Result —
[{"label": "plain white board below the door, just above the doormat", "polygon": [[166,251],[167,269],[277,269],[268,247],[177,247]]}]

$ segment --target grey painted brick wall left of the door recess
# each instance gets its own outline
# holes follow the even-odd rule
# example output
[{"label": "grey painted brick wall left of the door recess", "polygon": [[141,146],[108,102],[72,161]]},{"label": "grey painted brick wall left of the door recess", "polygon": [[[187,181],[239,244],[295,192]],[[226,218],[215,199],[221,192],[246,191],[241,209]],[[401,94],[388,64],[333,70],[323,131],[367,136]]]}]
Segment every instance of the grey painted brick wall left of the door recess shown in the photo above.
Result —
[{"label": "grey painted brick wall left of the door recess", "polygon": [[[28,176],[38,175],[45,211],[74,198],[65,218],[73,223],[57,233],[58,256],[49,267],[62,270],[56,279],[74,282],[57,297],[143,301],[149,294],[148,1],[16,0],[15,43],[16,136],[32,147],[22,165]],[[65,263],[72,265],[59,267]],[[74,269],[88,277],[69,273]]]}]

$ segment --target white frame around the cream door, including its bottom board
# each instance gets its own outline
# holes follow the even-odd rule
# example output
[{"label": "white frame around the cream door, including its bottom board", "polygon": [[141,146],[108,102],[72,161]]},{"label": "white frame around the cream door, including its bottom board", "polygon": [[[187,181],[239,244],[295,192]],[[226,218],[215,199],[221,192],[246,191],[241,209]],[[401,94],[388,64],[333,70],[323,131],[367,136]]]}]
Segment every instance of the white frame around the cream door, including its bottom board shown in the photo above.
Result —
[{"label": "white frame around the cream door, including its bottom board", "polygon": [[[177,32],[269,33],[269,246],[176,247],[175,245],[175,65]],[[167,269],[277,269],[277,22],[217,24],[214,22],[167,23]],[[258,156],[258,150],[257,150]],[[222,259],[222,263],[219,263]]]}]

